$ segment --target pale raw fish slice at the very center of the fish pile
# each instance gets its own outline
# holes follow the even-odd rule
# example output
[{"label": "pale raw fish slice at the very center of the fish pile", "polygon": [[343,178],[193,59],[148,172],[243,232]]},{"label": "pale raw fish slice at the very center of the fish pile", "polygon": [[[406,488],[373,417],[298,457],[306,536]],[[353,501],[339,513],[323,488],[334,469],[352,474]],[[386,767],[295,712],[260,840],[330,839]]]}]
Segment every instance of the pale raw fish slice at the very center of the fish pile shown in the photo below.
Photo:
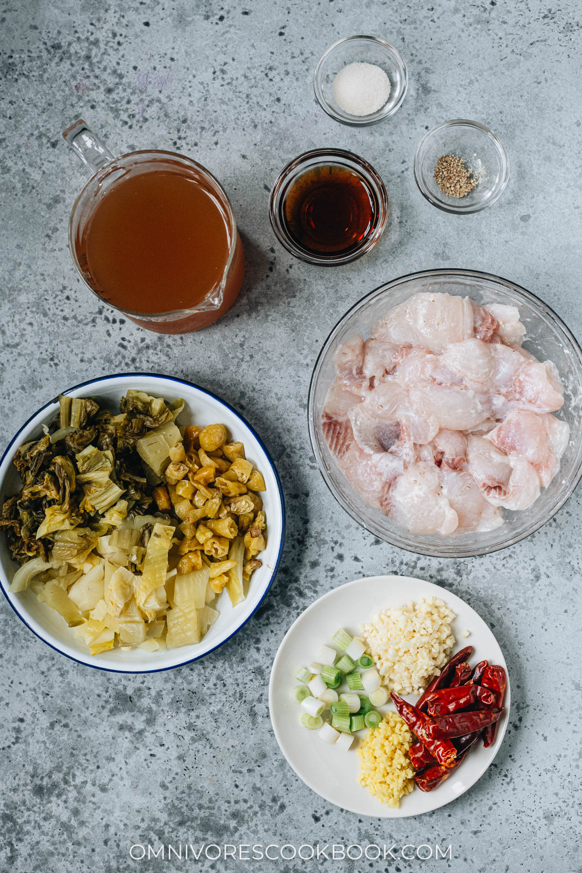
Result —
[{"label": "pale raw fish slice at the very center of the fish pile", "polygon": [[457,385],[431,385],[411,388],[410,406],[421,418],[433,419],[439,428],[466,430],[489,417],[475,391]]}]

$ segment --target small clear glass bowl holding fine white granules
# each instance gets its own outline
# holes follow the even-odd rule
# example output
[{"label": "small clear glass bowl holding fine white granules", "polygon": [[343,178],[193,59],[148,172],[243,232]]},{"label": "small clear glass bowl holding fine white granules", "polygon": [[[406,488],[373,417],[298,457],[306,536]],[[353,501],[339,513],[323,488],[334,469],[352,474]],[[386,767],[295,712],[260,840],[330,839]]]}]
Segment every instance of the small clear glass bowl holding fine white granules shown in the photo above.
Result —
[{"label": "small clear glass bowl holding fine white granules", "polygon": [[401,53],[379,37],[359,34],[325,49],[313,79],[320,107],[352,127],[367,127],[394,115],[407,86]]}]

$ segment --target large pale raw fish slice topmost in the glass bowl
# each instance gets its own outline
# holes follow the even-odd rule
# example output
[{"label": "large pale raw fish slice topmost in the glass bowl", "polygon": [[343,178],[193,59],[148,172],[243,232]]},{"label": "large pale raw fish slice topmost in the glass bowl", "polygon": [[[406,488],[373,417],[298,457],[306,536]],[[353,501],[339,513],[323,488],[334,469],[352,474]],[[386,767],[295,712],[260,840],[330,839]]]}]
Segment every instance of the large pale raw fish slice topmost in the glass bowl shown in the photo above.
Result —
[{"label": "large pale raw fish slice topmost in the glass bowl", "polygon": [[419,292],[378,319],[371,335],[401,346],[421,346],[441,354],[451,342],[473,336],[469,298]]}]

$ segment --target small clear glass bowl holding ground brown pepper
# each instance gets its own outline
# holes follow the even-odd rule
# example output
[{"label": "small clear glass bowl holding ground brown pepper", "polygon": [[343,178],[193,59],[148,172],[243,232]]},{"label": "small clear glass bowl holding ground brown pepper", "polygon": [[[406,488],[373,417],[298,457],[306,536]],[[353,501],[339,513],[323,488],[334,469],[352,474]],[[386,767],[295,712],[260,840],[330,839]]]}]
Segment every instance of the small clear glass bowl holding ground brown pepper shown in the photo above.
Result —
[{"label": "small clear glass bowl holding ground brown pepper", "polygon": [[503,143],[477,121],[444,121],[428,131],[414,155],[414,180],[428,203],[463,215],[484,210],[510,177]]}]

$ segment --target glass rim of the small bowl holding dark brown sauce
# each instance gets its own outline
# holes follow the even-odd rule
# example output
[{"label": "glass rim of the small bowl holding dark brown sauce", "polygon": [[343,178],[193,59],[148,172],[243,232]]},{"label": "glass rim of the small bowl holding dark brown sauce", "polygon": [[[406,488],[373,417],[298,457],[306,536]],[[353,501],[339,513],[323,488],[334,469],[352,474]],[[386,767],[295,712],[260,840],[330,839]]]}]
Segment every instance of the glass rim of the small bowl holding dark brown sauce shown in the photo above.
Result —
[{"label": "glass rim of the small bowl holding dark brown sauce", "polygon": [[[350,161],[355,164],[356,167],[362,168],[366,171],[366,175],[369,175],[372,178],[373,184],[377,189],[376,193],[380,203],[379,221],[373,230],[373,233],[366,237],[366,240],[359,245],[358,248],[349,251],[346,255],[338,255],[328,258],[318,257],[317,254],[307,251],[298,245],[291,235],[286,233],[284,225],[279,221],[279,198],[284,183],[292,173],[298,173],[300,168],[305,163],[310,162],[312,158],[320,159],[320,161],[314,162],[313,166],[317,166],[318,163],[325,165],[327,162],[332,162],[334,158],[343,158],[344,160]],[[374,245],[378,242],[386,229],[389,209],[390,204],[388,201],[386,186],[378,170],[374,169],[372,164],[366,161],[366,158],[355,155],[354,152],[350,152],[346,148],[312,148],[293,158],[290,162],[285,164],[279,175],[277,175],[277,178],[270,189],[269,195],[270,226],[272,227],[279,243],[295,258],[305,261],[306,264],[317,266],[339,266],[349,264],[352,261],[361,258],[367,251],[373,249]]]}]

